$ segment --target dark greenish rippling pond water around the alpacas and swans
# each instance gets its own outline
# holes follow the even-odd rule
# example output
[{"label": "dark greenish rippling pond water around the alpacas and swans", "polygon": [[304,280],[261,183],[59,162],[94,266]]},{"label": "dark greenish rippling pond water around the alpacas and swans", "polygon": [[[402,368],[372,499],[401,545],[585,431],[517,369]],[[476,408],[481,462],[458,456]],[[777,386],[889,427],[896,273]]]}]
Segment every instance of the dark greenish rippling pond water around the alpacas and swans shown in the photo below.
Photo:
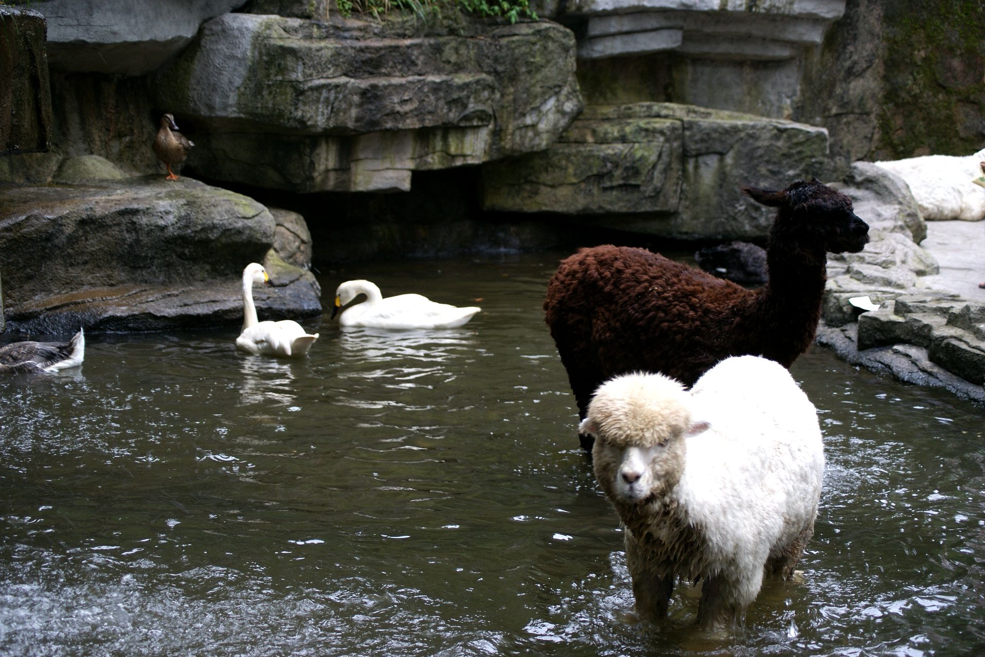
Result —
[{"label": "dark greenish rippling pond water around the alpacas and swans", "polygon": [[[461,329],[88,336],[0,379],[0,654],[928,655],[985,648],[980,407],[838,361],[793,372],[827,472],[803,582],[701,635],[632,621],[616,514],[543,321],[564,254],[347,266]],[[9,336],[7,336],[9,338]]]}]

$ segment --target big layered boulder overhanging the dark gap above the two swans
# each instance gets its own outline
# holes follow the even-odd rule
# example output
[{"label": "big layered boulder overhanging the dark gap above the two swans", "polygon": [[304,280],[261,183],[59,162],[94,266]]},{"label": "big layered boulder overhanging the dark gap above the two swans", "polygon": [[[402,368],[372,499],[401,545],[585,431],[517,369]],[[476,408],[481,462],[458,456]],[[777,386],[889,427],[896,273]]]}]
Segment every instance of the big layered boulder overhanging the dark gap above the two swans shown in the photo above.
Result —
[{"label": "big layered boulder overhanging the dark gap above the two swans", "polygon": [[558,25],[420,31],[227,14],[154,88],[202,175],[296,192],[407,190],[415,170],[546,149],[581,110]]}]

